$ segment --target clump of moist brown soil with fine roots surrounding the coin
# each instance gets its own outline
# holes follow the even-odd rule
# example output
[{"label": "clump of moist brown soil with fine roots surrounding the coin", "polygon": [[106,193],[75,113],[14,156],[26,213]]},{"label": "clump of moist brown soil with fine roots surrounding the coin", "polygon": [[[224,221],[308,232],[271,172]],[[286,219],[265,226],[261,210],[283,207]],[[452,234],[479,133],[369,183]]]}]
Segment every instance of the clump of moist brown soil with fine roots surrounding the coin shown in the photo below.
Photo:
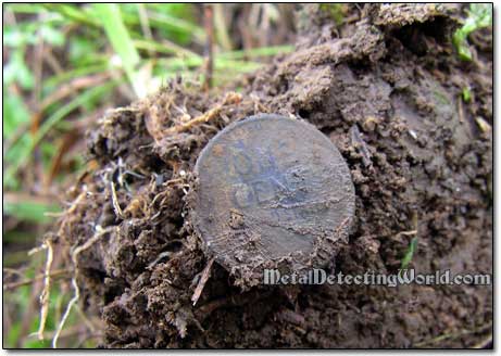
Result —
[{"label": "clump of moist brown soil with fine roots surrounding the coin", "polygon": [[209,262],[190,220],[195,163],[222,128],[259,113],[312,123],[350,167],[356,219],[330,272],[397,272],[413,237],[418,272],[492,272],[492,43],[475,37],[476,60],[461,62],[450,42],[456,8],[349,14],[336,27],[322,7],[304,9],[297,51],[240,82],[241,93],[179,79],[89,132],[96,169],[70,192],[80,198],[58,237],[73,249],[95,237],[77,256],[77,281],[79,303],[102,316],[103,346],[489,345],[491,287],[241,291],[214,263],[192,306]]}]

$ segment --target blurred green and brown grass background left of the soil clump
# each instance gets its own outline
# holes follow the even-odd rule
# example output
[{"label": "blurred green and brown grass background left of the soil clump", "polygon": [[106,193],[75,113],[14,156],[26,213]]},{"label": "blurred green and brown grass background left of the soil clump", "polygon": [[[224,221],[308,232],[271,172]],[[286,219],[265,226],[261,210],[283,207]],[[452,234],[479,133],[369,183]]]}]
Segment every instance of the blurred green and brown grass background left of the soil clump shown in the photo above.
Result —
[{"label": "blurred green and brown grass background left of the soil clump", "polygon": [[[291,4],[3,4],[3,347],[50,347],[72,296],[36,249],[88,164],[84,134],[112,107],[176,76],[221,87],[295,42]],[[60,347],[93,347],[99,320],[75,308]]]}]

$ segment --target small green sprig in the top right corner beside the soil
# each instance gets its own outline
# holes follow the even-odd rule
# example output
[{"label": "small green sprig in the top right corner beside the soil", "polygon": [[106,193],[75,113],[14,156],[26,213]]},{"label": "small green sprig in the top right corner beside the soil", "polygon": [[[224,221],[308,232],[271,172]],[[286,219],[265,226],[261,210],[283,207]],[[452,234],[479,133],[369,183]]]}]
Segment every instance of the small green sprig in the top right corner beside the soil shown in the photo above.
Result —
[{"label": "small green sprig in the top right corner beside the soil", "polygon": [[472,61],[472,50],[467,37],[473,31],[492,26],[492,4],[491,3],[471,3],[468,16],[461,28],[456,29],[452,42],[454,43],[458,54],[463,61]]}]

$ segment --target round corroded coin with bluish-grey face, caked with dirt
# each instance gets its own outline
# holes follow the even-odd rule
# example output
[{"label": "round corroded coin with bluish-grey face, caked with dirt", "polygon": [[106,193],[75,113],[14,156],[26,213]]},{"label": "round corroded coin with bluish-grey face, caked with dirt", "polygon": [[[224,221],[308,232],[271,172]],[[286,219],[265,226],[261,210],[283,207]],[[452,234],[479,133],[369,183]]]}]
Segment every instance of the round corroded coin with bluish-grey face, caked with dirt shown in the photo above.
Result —
[{"label": "round corroded coin with bluish-grey face, caked with dirt", "polygon": [[[314,126],[277,115],[229,125],[200,154],[195,227],[240,280],[331,260],[354,214],[350,170]],[[242,282],[245,284],[245,282]]]}]

